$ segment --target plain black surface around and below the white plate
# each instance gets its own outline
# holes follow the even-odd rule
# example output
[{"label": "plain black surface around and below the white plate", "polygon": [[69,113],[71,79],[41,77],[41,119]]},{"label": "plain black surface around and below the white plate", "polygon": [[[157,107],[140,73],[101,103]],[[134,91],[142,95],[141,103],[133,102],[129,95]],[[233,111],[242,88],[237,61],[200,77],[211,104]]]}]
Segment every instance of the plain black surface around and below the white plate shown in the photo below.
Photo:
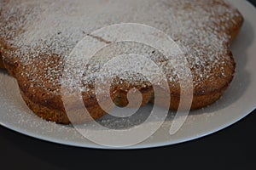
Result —
[{"label": "plain black surface around and below the white plate", "polygon": [[[256,0],[250,2],[256,5]],[[0,169],[256,169],[255,137],[256,110],[218,133],[147,150],[83,149],[33,139],[0,127]]]}]

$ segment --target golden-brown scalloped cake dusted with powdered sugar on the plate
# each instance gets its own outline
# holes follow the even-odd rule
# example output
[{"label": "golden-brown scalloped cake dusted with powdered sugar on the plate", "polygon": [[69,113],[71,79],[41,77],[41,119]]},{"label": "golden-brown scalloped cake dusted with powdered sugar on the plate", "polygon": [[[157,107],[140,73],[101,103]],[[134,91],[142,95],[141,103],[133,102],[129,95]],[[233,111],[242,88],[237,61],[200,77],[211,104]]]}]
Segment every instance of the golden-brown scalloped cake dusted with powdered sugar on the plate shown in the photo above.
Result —
[{"label": "golden-brown scalloped cake dusted with powdered sugar on the plate", "polygon": [[[223,0],[0,0],[0,67],[17,79],[22,98],[35,114],[67,124],[70,121],[61,99],[61,76],[69,54],[85,36],[117,51],[141,53],[159,65],[168,62],[159,51],[143,44],[109,42],[90,35],[104,26],[139,23],[165,32],[182,48],[193,76],[191,109],[195,110],[214,103],[229,87],[236,70],[230,43],[242,22],[239,11]],[[94,78],[99,75],[90,73],[104,64],[107,52],[102,49],[89,65],[79,68],[84,71],[83,81],[74,83],[81,88],[84,105],[93,118],[106,112],[98,105],[94,91]],[[73,66],[77,66],[75,62]],[[170,109],[177,110],[177,75],[168,66],[163,70],[171,92]],[[154,102],[152,84],[142,76],[115,76],[110,94],[116,105],[128,104],[131,88],[142,92],[142,105]],[[74,87],[69,88],[72,91]],[[165,98],[162,100],[165,102]],[[99,102],[104,104],[104,98]],[[74,110],[82,109],[76,108],[72,98],[70,105]]]}]

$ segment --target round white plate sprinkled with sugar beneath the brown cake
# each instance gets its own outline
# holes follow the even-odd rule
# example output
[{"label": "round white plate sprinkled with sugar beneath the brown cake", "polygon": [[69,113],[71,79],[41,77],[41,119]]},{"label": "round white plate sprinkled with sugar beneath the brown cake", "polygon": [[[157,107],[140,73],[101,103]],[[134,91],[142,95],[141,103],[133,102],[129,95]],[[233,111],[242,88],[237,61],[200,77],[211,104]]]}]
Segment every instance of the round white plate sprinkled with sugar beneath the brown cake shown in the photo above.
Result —
[{"label": "round white plate sprinkled with sugar beneath the brown cake", "polygon": [[[183,127],[169,135],[171,120],[154,136],[131,148],[150,148],[177,144],[217,132],[241,120],[256,108],[256,9],[245,0],[232,0],[245,18],[240,36],[232,45],[237,71],[234,82],[223,98],[204,110],[190,112]],[[84,139],[73,127],[46,122],[34,116],[20,98],[15,79],[0,73],[0,124],[16,132],[47,141],[88,148],[106,148]],[[147,108],[146,108],[147,109]]]}]

